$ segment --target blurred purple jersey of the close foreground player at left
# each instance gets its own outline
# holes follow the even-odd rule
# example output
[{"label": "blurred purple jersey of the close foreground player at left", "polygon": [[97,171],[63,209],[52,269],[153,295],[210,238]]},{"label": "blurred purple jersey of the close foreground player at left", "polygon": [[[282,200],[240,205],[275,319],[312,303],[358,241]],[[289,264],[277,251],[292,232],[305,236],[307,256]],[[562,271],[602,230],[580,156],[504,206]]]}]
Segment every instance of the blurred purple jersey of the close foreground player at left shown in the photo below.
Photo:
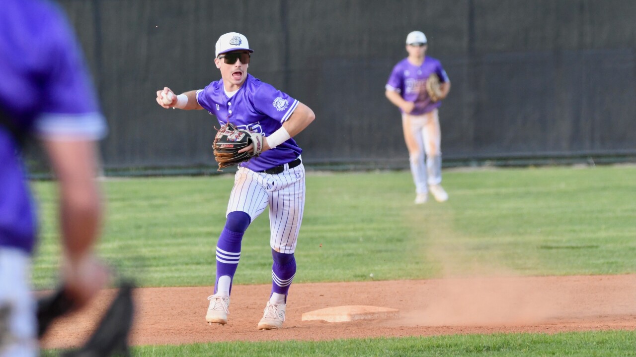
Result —
[{"label": "blurred purple jersey of the close foreground player at left", "polygon": [[[106,134],[71,27],[48,1],[3,0],[0,112],[42,138],[97,140]],[[15,139],[0,123],[0,246],[32,252],[37,218]]]}]

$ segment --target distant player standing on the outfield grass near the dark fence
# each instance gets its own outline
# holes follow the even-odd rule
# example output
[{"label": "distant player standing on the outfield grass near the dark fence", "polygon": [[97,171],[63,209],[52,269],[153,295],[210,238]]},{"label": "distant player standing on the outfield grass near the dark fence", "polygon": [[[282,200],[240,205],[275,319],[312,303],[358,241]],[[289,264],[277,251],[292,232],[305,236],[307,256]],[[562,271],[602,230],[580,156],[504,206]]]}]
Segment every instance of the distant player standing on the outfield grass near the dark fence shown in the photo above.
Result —
[{"label": "distant player standing on the outfield grass near the dark fence", "polygon": [[[439,60],[426,56],[427,41],[424,33],[413,31],[406,36],[408,57],[398,62],[386,85],[386,96],[402,112],[404,141],[415,182],[415,203],[427,201],[428,192],[443,202],[448,194],[441,187],[441,130],[438,107],[450,91],[450,80]],[[425,83],[437,74],[441,83],[441,97],[434,102]]]}]

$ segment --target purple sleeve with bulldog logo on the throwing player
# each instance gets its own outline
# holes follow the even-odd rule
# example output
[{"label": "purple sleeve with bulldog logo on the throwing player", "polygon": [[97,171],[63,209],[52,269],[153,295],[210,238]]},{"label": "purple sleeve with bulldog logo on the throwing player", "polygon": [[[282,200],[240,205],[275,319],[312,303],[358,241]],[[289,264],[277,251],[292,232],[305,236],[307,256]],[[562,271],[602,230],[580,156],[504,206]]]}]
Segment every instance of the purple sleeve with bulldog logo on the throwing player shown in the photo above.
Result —
[{"label": "purple sleeve with bulldog logo on the throwing player", "polygon": [[267,83],[259,86],[254,93],[253,101],[252,105],[256,111],[280,123],[287,121],[298,106],[298,100]]}]

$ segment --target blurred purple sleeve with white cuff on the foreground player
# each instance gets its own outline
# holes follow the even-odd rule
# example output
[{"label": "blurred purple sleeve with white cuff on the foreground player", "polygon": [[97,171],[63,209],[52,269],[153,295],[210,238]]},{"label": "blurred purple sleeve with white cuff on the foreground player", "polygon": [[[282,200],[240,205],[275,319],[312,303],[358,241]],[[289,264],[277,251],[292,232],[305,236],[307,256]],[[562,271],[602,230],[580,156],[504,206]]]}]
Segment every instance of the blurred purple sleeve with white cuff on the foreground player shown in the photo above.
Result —
[{"label": "blurred purple sleeve with white cuff on the foreground player", "polygon": [[59,11],[46,18],[46,42],[41,43],[43,83],[41,114],[34,123],[36,135],[44,138],[98,140],[107,126],[100,112],[97,93],[86,67],[83,52]]}]

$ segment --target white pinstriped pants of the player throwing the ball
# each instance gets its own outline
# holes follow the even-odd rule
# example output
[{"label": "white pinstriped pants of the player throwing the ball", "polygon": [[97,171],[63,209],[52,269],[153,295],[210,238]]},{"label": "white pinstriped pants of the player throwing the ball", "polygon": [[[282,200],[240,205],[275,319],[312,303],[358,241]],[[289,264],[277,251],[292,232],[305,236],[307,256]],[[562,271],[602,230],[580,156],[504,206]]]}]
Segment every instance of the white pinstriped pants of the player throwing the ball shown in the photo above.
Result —
[{"label": "white pinstriped pants of the player throwing the ball", "polygon": [[[287,165],[286,165],[287,166]],[[305,208],[305,167],[300,164],[277,175],[239,168],[226,215],[242,211],[254,222],[270,206],[270,245],[290,254],[296,250]]]}]

